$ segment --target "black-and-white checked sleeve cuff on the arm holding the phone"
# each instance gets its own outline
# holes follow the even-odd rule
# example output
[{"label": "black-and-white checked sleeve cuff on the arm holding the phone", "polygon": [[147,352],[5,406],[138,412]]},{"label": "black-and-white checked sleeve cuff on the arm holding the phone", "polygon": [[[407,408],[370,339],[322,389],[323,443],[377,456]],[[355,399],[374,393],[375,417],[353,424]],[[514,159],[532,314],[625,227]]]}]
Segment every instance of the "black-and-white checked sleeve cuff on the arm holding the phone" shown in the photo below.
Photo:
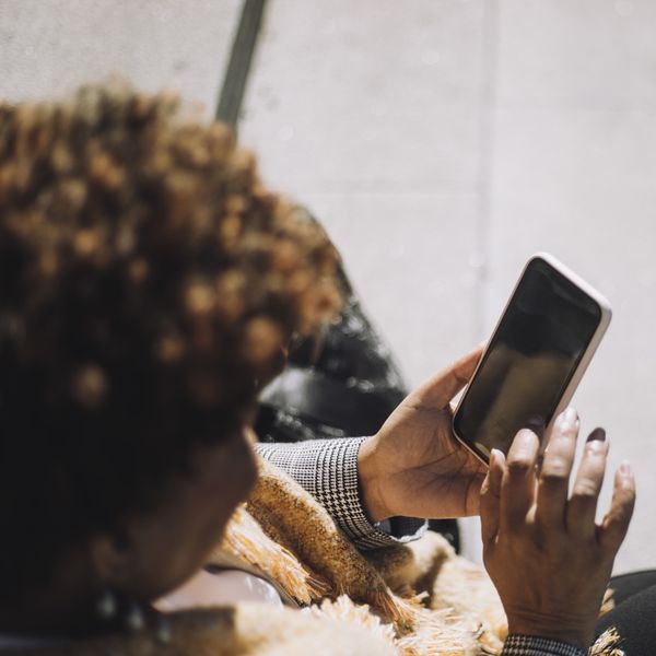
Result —
[{"label": "black-and-white checked sleeve cuff on the arm holding the phone", "polygon": [[377,549],[409,542],[423,535],[425,522],[411,531],[393,536],[372,524],[362,507],[358,488],[358,452],[366,437],[312,440],[296,443],[260,443],[256,452],[286,471],[330,514],[359,549]]}]

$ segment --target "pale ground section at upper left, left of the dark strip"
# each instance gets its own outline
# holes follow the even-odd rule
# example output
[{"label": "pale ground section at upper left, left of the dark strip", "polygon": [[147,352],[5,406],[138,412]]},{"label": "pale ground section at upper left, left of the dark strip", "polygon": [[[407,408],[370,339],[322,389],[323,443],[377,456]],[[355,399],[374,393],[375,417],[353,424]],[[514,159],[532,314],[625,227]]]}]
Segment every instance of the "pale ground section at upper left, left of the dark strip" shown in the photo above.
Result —
[{"label": "pale ground section at upper left, left of the dark strip", "polygon": [[214,110],[241,0],[0,0],[0,97],[113,74]]}]

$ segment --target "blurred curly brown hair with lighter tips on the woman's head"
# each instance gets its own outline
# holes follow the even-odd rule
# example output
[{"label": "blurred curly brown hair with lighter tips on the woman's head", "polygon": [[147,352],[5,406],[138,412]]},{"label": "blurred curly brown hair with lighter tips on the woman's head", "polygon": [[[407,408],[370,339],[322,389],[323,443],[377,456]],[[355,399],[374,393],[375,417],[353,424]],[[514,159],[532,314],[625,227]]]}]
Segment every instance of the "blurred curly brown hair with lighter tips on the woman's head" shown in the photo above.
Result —
[{"label": "blurred curly brown hair with lighter tips on the woman's head", "polygon": [[244,421],[337,254],[230,130],[125,83],[0,104],[0,596]]}]

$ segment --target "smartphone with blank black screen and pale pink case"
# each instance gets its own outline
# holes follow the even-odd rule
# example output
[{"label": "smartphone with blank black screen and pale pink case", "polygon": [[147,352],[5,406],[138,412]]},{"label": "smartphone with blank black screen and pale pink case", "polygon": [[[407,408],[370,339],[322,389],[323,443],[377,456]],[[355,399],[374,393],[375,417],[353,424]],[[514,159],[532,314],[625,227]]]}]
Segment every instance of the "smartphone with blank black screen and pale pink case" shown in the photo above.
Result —
[{"label": "smartphone with blank black screen and pale pink case", "polygon": [[456,408],[456,437],[489,464],[490,452],[507,454],[529,423],[543,423],[548,436],[610,317],[608,301],[593,286],[553,256],[534,255]]}]

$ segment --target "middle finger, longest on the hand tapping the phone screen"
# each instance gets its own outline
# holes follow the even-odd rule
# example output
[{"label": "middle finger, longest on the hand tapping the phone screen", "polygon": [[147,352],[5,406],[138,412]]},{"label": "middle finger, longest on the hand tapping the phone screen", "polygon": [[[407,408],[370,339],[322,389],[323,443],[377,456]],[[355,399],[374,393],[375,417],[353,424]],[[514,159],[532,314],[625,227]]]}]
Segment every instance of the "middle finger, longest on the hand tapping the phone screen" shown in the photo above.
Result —
[{"label": "middle finger, longest on the hand tapping the phone screen", "polygon": [[564,528],[577,435],[578,415],[567,408],[554,422],[538,482],[536,520],[546,528]]}]

